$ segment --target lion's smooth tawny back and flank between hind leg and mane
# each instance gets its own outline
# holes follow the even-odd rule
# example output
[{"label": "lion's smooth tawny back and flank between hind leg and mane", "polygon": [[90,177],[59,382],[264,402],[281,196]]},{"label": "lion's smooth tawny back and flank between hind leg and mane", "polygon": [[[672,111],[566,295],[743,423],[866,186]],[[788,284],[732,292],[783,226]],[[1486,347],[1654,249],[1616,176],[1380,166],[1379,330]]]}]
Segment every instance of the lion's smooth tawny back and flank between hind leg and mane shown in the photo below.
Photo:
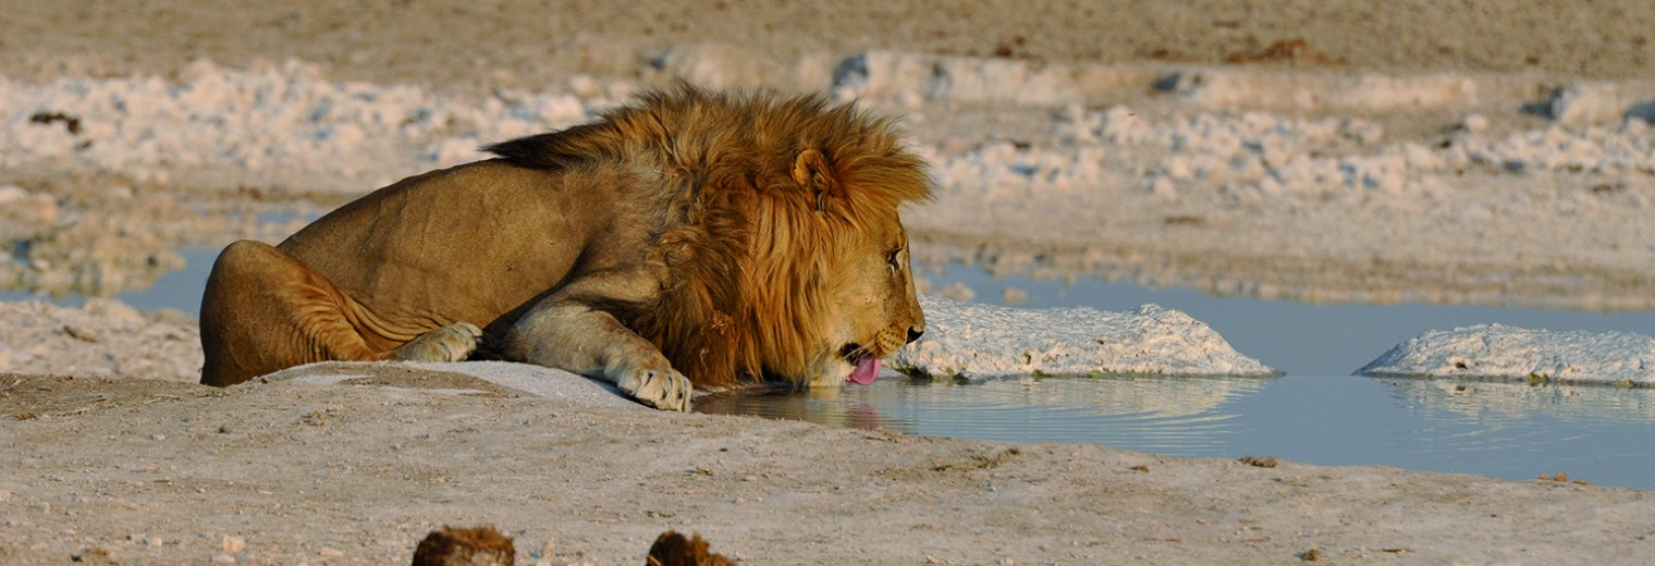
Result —
[{"label": "lion's smooth tawny back and flank between hind leg and mane", "polygon": [[487,324],[573,268],[602,218],[561,174],[482,161],[402,179],[278,248],[382,316]]}]

